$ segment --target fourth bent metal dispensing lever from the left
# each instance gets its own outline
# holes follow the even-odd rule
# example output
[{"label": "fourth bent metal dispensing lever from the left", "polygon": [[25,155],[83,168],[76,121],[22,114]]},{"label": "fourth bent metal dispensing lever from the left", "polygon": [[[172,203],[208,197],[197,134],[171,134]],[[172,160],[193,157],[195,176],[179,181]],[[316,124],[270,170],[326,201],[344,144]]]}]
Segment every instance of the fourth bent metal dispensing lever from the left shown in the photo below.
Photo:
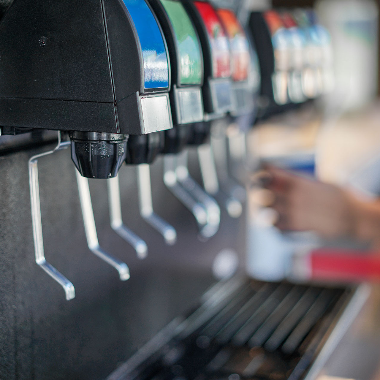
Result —
[{"label": "fourth bent metal dispensing lever from the left", "polygon": [[148,164],[140,164],[137,166],[137,183],[140,215],[164,237],[166,244],[173,245],[177,240],[176,230],[153,211],[150,169]]}]

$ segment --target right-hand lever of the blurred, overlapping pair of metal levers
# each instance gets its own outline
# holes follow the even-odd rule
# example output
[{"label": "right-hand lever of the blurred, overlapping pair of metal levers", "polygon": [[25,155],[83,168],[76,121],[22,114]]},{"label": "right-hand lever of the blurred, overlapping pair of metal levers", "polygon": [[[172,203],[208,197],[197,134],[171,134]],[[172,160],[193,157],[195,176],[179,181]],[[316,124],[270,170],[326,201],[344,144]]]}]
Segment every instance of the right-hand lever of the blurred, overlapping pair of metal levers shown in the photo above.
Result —
[{"label": "right-hand lever of the blurred, overlapping pair of metal levers", "polygon": [[209,238],[217,233],[220,225],[220,208],[203,188],[190,176],[187,167],[188,152],[177,155],[176,162],[176,177],[182,187],[190,193],[207,211],[207,223],[201,229],[201,236]]}]

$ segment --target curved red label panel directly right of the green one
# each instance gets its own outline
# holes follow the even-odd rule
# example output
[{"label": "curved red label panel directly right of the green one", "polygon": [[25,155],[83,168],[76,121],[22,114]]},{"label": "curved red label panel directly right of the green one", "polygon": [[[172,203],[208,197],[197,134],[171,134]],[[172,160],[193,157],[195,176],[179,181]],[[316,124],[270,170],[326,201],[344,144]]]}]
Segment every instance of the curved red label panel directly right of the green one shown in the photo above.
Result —
[{"label": "curved red label panel directly right of the green one", "polygon": [[211,45],[212,74],[214,78],[228,78],[231,76],[230,46],[220,19],[211,4],[195,1]]}]

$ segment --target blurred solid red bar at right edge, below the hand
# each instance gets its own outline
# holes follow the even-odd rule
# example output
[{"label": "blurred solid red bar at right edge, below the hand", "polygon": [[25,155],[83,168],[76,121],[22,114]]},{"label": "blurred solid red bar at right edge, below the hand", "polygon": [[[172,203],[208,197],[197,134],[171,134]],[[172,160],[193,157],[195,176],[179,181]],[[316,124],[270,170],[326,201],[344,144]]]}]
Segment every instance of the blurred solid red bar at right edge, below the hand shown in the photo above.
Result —
[{"label": "blurred solid red bar at right edge, below the hand", "polygon": [[380,254],[332,249],[310,253],[312,279],[380,281]]}]

